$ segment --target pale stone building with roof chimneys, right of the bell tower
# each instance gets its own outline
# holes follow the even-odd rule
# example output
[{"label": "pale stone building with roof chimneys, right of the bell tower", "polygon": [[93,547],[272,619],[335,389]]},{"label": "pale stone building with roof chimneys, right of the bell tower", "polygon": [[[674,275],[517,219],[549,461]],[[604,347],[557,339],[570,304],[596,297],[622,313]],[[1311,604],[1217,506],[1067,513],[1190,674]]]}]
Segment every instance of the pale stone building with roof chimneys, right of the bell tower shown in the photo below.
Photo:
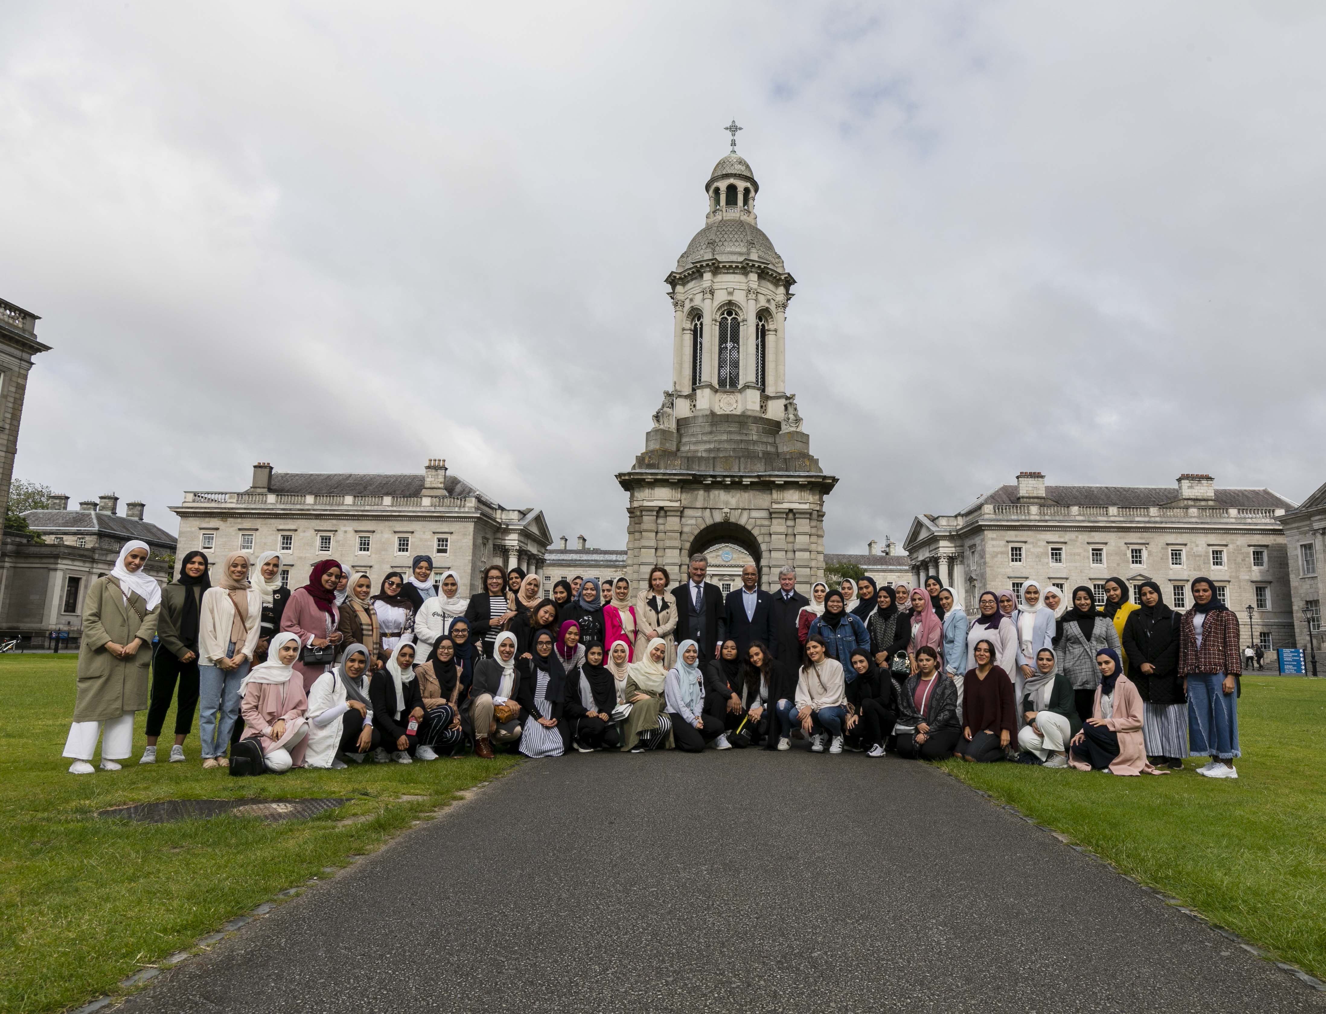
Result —
[{"label": "pale stone building with roof chimneys, right of the bell tower", "polygon": [[[1188,582],[1209,577],[1238,611],[1242,636],[1268,649],[1293,647],[1289,558],[1281,521],[1294,504],[1269,489],[1219,488],[1207,475],[1175,486],[1053,486],[1022,472],[956,514],[918,514],[903,547],[912,581],[939,574],[963,591],[968,612],[987,589],[1029,579],[1071,591],[1105,581],[1151,579],[1174,608],[1188,608]],[[1246,607],[1253,607],[1248,630]]]}]

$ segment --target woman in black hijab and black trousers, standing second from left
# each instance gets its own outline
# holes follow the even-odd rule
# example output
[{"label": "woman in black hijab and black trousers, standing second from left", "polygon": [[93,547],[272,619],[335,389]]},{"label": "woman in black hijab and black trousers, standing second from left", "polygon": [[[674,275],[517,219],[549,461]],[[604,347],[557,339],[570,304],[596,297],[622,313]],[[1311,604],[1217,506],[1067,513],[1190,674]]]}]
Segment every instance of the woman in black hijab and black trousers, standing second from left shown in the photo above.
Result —
[{"label": "woman in black hijab and black trousers, standing second from left", "polygon": [[162,590],[156,622],[159,643],[152,652],[152,696],[147,708],[147,749],[139,763],[156,763],[156,737],[175,696],[176,680],[179,706],[170,760],[172,763],[184,760],[184,737],[194,728],[194,712],[198,710],[198,607],[210,587],[207,557],[195,549],[184,554],[179,577]]}]

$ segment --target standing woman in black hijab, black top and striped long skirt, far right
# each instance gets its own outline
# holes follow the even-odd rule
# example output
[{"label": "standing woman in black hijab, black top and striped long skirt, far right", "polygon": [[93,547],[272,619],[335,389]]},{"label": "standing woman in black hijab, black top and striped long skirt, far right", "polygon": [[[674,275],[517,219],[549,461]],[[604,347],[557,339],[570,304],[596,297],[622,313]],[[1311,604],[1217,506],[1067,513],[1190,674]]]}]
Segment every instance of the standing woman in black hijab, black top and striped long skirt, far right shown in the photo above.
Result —
[{"label": "standing woman in black hijab, black top and striped long skirt, far right", "polygon": [[1160,586],[1143,581],[1138,608],[1123,623],[1128,679],[1142,695],[1142,734],[1151,763],[1175,770],[1188,753],[1188,695],[1179,679],[1179,615]]}]

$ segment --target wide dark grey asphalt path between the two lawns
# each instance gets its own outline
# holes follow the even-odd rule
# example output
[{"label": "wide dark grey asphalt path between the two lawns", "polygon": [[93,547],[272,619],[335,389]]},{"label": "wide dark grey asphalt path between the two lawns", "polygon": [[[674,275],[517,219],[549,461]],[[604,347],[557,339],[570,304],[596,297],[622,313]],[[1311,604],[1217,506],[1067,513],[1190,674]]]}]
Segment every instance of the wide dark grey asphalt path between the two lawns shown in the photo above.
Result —
[{"label": "wide dark grey asphalt path between the two lawns", "polygon": [[798,749],[526,763],[123,1007],[812,1009],[1326,997],[941,771]]}]

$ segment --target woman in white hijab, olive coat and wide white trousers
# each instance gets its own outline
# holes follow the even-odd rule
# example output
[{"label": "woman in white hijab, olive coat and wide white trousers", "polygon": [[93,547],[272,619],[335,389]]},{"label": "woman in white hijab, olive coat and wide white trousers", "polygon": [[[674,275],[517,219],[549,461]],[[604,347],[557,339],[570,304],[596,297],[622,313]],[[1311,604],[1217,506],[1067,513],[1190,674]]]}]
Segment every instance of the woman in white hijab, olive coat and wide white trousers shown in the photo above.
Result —
[{"label": "woman in white hijab, olive coat and wide white trousers", "polygon": [[[151,550],[134,539],[119,550],[110,574],[97,578],[84,598],[78,648],[78,696],[65,741],[70,774],[91,774],[97,738],[101,767],[118,771],[134,749],[134,712],[147,706],[147,667],[160,611],[162,590],[143,573]],[[105,736],[102,726],[105,725]]]}]

